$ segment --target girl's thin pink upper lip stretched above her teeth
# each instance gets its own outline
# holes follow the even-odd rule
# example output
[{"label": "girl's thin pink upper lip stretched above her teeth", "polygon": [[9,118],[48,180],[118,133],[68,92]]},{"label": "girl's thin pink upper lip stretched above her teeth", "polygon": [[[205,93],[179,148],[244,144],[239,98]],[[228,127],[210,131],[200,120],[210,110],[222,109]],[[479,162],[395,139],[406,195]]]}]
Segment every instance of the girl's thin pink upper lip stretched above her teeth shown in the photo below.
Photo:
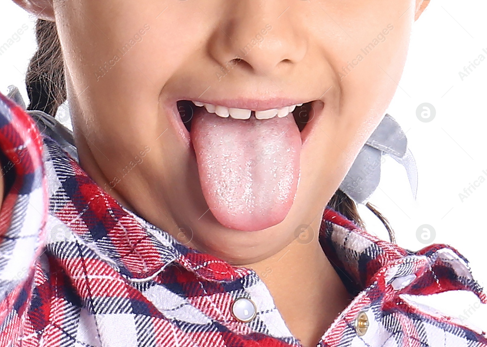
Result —
[{"label": "girl's thin pink upper lip stretched above her teeth", "polygon": [[292,106],[296,104],[308,103],[308,100],[298,99],[284,99],[284,98],[271,98],[271,99],[219,99],[219,100],[207,100],[207,99],[187,99],[190,101],[199,101],[204,104],[220,105],[228,108],[243,108],[252,111],[265,111],[273,108],[281,108],[285,106]]}]

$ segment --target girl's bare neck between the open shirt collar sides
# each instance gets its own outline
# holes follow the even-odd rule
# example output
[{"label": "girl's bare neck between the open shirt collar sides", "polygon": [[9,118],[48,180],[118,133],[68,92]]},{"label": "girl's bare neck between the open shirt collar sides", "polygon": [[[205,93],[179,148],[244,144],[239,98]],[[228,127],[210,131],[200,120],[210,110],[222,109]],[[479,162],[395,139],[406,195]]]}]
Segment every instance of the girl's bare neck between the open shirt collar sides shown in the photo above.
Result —
[{"label": "girl's bare neck between the open shirt collar sides", "polygon": [[351,299],[318,242],[320,222],[308,228],[316,230],[311,242],[296,238],[274,256],[244,265],[260,276],[287,327],[305,347],[318,344]]}]

